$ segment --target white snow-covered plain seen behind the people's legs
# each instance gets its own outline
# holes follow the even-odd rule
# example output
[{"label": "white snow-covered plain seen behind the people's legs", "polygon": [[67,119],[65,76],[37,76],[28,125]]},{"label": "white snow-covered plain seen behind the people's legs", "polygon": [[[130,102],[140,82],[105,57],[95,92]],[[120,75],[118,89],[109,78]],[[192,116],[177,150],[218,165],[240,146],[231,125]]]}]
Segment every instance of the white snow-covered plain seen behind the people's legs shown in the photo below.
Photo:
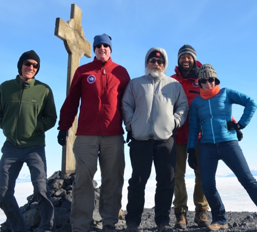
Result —
[{"label": "white snow-covered plain seen behind the people's legs", "polygon": [[[257,176],[255,176],[256,179]],[[226,211],[249,211],[257,212],[257,207],[251,201],[246,190],[237,181],[236,177],[216,177],[217,189]],[[98,181],[98,187],[101,182]],[[150,179],[145,188],[145,208],[152,208],[154,206],[154,194],[155,194],[156,181]],[[193,204],[193,189],[194,179],[186,179],[187,192],[188,192],[188,207],[190,211],[194,210]],[[127,186],[128,181],[124,182],[123,187],[123,198],[122,198],[122,209],[126,209],[127,204]],[[33,193],[33,186],[31,182],[16,183],[15,187],[15,198],[19,206],[23,206],[27,203],[27,197]],[[5,214],[0,209],[0,223],[6,221]]]}]

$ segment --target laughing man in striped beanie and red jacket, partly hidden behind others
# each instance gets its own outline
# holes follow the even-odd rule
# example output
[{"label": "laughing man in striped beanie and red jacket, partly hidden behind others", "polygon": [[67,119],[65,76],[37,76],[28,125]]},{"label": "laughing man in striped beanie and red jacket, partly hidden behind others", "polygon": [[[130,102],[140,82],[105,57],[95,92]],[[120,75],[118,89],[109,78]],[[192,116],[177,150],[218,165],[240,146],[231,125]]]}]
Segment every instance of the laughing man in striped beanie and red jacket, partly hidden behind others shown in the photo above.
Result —
[{"label": "laughing man in striped beanie and red jacket, partly hidden behind others", "polygon": [[[178,66],[175,67],[175,73],[171,77],[176,79],[183,86],[188,104],[190,106],[193,99],[200,94],[198,85],[198,70],[201,66],[199,61],[196,61],[196,51],[190,45],[183,45],[178,51]],[[188,142],[189,123],[188,117],[186,122],[177,131],[177,162],[175,172],[175,189],[174,189],[174,211],[176,216],[175,228],[187,228],[187,189],[185,184],[185,173],[187,164],[187,142]],[[198,148],[198,146],[197,146]],[[198,149],[196,149],[196,159],[198,160]],[[209,209],[208,202],[205,198],[203,189],[201,188],[199,167],[195,172],[195,187],[194,187],[194,205],[195,218],[194,222],[200,227],[209,225],[207,211]]]}]

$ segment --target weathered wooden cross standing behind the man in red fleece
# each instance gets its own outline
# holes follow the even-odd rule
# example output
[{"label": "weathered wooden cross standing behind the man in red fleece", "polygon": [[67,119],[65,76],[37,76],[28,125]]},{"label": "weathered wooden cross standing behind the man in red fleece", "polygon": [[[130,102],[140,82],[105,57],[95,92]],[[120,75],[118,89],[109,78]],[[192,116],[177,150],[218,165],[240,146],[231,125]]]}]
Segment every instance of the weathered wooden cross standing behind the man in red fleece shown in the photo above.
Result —
[{"label": "weathered wooden cross standing behind the man in red fleece", "polygon": [[[69,92],[72,78],[79,67],[80,59],[85,56],[91,57],[91,44],[84,37],[81,26],[82,10],[75,4],[71,4],[70,20],[64,22],[60,17],[56,19],[54,35],[64,41],[64,46],[68,52],[68,72],[66,95]],[[75,157],[72,151],[77,131],[77,116],[68,130],[66,146],[62,149],[62,175],[73,173],[75,170]]]}]

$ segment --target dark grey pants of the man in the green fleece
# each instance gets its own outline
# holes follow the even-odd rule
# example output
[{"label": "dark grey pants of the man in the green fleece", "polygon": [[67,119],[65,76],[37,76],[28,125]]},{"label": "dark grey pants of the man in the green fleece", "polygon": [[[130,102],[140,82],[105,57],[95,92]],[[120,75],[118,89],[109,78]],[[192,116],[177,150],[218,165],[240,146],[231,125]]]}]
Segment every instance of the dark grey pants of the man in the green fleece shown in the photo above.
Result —
[{"label": "dark grey pants of the man in the green fleece", "polygon": [[34,194],[38,199],[41,216],[40,231],[54,231],[54,210],[47,186],[45,147],[17,148],[11,142],[5,142],[2,153],[0,160],[0,207],[5,212],[12,231],[27,231],[22,213],[14,197],[15,182],[24,163],[29,168]]}]

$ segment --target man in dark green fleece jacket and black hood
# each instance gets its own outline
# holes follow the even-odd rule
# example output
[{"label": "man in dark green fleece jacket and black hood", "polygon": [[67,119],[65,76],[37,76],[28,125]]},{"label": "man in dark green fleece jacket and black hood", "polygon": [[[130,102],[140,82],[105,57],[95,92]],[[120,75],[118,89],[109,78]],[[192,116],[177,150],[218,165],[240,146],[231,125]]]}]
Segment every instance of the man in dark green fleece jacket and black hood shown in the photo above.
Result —
[{"label": "man in dark green fleece jacket and black hood", "polygon": [[0,128],[6,136],[0,160],[0,207],[12,231],[27,231],[14,197],[15,181],[26,163],[38,199],[40,231],[54,231],[46,175],[45,131],[56,123],[56,106],[50,87],[35,80],[40,69],[40,58],[35,51],[24,52],[17,67],[19,75],[0,85]]}]

